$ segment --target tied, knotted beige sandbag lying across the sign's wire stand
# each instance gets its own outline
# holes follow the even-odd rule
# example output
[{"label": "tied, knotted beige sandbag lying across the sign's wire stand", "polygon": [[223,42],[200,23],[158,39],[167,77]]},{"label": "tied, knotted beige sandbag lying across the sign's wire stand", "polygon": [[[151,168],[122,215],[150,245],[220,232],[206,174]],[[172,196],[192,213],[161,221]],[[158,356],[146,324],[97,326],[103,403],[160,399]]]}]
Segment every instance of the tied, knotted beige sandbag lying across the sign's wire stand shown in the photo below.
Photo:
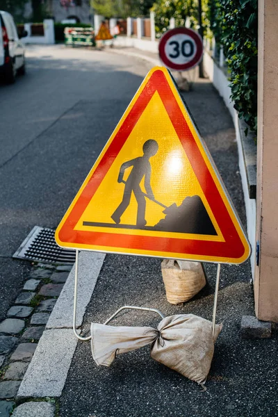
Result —
[{"label": "tied, knotted beige sandbag lying across the sign's wire stand", "polygon": [[113,327],[92,323],[92,357],[97,365],[110,366],[116,354],[152,344],[151,356],[198,384],[206,381],[214,343],[222,325],[193,314],[165,317],[153,327]]}]

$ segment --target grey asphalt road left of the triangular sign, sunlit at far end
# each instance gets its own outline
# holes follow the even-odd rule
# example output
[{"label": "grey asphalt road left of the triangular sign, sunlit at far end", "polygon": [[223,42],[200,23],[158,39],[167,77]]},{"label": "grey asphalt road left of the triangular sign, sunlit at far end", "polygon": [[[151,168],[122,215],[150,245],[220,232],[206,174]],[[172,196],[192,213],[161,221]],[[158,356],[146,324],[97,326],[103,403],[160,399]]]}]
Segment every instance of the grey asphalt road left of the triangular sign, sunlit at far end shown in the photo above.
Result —
[{"label": "grey asphalt road left of the triangular sign, sunlit at far end", "polygon": [[56,227],[150,65],[109,51],[28,47],[27,74],[0,85],[0,320],[30,263],[12,255]]}]

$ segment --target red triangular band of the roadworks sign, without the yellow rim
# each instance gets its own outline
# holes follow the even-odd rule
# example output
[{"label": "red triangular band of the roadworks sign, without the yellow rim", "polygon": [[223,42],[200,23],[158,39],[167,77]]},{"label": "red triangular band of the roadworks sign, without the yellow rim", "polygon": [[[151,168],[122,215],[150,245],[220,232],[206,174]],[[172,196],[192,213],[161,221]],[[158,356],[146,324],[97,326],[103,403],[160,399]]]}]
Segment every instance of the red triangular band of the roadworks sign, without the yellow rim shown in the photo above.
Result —
[{"label": "red triangular band of the roadworks sign, without the yellow rim", "polygon": [[[88,206],[102,179],[104,179],[115,160],[115,157],[119,154],[126,139],[133,130],[133,127],[138,122],[140,115],[142,115],[156,91],[163,101],[165,110],[170,117],[174,129],[177,132],[177,136],[181,141],[181,145],[193,167],[207,202],[211,207],[211,211],[215,216],[215,220],[218,222],[224,242],[181,239],[178,237],[139,236],[136,234],[131,236],[120,233],[111,234],[109,232],[103,233],[74,230],[76,223],[81,218],[81,215]],[[219,258],[234,260],[243,259],[246,255],[243,260],[245,261],[249,256],[249,254],[246,253],[247,247],[243,244],[243,241],[236,230],[235,224],[229,215],[218,187],[211,176],[211,172],[206,166],[206,162],[199,151],[197,142],[181,112],[181,108],[179,107],[177,99],[174,97],[163,70],[155,70],[150,76],[145,88],[143,88],[138,99],[130,109],[129,114],[125,117],[115,138],[108,149],[106,149],[95,172],[91,175],[88,183],[79,196],[79,199],[74,204],[72,211],[70,211],[63,226],[60,231],[58,231],[58,238],[60,242],[70,243],[76,245],[76,247],[79,247],[79,245],[88,245],[88,249],[90,249],[90,245],[92,245],[92,250],[94,250],[94,247],[107,247],[107,252],[113,252],[113,247],[115,247],[114,252],[119,252],[119,250],[116,249],[122,248],[124,250],[130,249],[130,253],[133,253],[132,250],[155,251],[161,252],[161,257],[167,257],[167,254],[174,253],[181,254],[182,258],[185,258],[184,254],[187,254],[188,256],[186,259],[190,259],[190,256],[197,256],[197,258],[199,257],[199,260],[208,257],[215,258],[215,261]]]}]

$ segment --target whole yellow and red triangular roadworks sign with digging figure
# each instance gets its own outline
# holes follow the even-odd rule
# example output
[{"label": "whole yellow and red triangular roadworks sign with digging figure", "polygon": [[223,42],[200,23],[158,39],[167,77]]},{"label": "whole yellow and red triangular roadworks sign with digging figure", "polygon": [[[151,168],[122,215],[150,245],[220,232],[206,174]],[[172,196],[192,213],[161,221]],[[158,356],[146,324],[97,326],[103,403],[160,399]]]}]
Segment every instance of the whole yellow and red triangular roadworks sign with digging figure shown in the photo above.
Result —
[{"label": "whole yellow and red triangular roadworks sign with digging figure", "polygon": [[56,230],[63,247],[242,263],[250,245],[170,73],[147,74]]}]

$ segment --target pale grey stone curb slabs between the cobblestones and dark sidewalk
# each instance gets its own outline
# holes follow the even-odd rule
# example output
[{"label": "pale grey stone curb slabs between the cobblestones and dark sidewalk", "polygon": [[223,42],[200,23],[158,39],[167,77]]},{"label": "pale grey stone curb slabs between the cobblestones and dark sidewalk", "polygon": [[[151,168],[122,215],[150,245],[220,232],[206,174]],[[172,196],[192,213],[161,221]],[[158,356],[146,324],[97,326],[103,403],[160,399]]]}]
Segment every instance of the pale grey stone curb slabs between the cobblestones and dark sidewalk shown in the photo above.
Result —
[{"label": "pale grey stone curb slabs between the cobblestones and dark sidewalk", "polygon": [[[95,289],[106,254],[81,252],[79,255],[79,302],[76,325],[80,327],[85,309]],[[65,286],[47,322],[47,329],[35,350],[30,365],[19,386],[17,397],[59,397],[63,391],[78,340],[72,332],[74,270],[70,271]]]}]

